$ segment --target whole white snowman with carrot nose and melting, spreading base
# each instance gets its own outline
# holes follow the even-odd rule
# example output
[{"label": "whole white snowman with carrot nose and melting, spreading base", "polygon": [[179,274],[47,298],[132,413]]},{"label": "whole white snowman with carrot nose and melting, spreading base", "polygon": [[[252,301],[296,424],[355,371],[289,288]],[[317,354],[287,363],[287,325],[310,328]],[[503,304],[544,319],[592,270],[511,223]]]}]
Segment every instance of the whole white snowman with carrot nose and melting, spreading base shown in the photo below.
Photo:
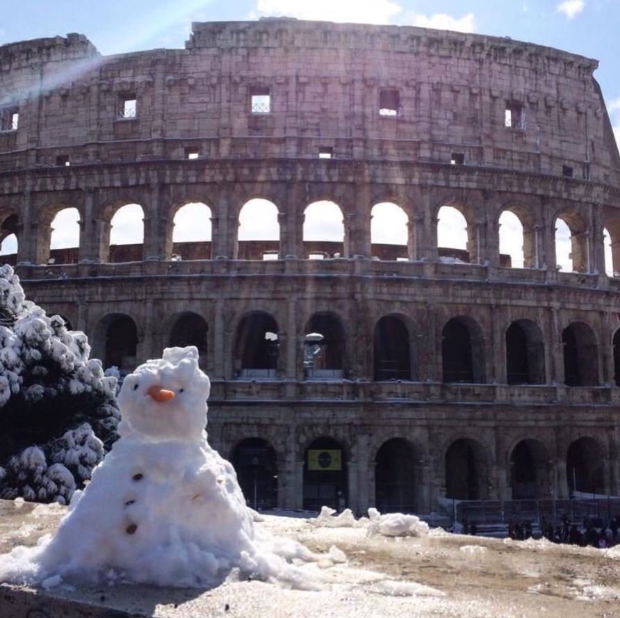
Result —
[{"label": "whole white snowman with carrot nose and melting, spreading base", "polygon": [[0,556],[0,581],[203,587],[238,573],[317,587],[300,562],[344,562],[343,553],[319,555],[254,526],[233,467],[207,441],[209,389],[193,346],[167,348],[128,375],[120,439],[54,536]]}]

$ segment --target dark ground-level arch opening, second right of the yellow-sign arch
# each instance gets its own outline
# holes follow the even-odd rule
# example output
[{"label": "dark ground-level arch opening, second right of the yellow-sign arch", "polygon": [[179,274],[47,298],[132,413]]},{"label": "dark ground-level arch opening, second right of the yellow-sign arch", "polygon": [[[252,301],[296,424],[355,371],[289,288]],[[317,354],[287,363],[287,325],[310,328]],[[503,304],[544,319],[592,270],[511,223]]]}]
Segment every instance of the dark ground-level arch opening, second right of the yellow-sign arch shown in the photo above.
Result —
[{"label": "dark ground-level arch opening, second right of the yellow-sign arch", "polygon": [[469,438],[458,439],[446,451],[446,497],[455,500],[484,500],[489,494],[487,457],[482,445]]}]

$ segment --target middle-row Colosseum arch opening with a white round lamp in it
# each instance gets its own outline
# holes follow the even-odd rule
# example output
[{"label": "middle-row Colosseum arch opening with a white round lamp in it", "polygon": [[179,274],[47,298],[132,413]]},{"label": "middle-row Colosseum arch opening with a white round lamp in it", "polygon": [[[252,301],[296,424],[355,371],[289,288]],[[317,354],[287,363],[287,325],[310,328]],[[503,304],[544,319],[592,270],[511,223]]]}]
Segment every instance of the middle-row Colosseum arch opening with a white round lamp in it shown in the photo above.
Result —
[{"label": "middle-row Colosseum arch opening with a white round lamp in it", "polygon": [[345,349],[341,321],[334,314],[314,314],[304,334],[304,378],[341,380]]}]

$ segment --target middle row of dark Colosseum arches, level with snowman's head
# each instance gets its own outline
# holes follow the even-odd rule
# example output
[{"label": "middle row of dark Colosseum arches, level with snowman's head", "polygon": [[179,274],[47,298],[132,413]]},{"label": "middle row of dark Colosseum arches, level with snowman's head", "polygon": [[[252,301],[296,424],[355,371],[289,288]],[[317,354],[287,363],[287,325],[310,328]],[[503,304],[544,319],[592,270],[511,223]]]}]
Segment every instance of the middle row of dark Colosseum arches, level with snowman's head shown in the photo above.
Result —
[{"label": "middle row of dark Colosseum arches, level with snowman's head", "polygon": [[[342,380],[348,377],[347,329],[338,314],[319,311],[304,326],[302,364],[304,380]],[[507,384],[546,384],[548,371],[543,334],[532,320],[514,320],[505,337]],[[277,379],[284,373],[280,362],[280,330],[265,311],[242,316],[234,332],[232,377]],[[209,325],[202,316],[182,312],[170,323],[164,345],[195,345],[204,365],[208,362]],[[620,386],[620,329],[614,334],[614,381]],[[136,366],[138,327],[130,316],[109,314],[95,330],[94,345],[104,364],[131,371]],[[577,321],[562,330],[564,383],[596,386],[599,383],[598,343],[589,325]],[[373,380],[418,380],[418,336],[411,321],[400,314],[382,316],[372,334]],[[450,318],[441,330],[443,382],[487,382],[485,337],[469,316]]]}]

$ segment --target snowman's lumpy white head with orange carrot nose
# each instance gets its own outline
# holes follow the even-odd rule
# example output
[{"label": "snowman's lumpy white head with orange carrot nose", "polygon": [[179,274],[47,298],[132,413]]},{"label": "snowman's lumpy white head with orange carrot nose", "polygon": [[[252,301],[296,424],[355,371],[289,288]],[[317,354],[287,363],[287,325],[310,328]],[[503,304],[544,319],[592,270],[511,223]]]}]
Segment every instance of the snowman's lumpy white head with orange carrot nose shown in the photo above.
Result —
[{"label": "snowman's lumpy white head with orange carrot nose", "polygon": [[206,427],[210,388],[194,345],[166,348],[161,359],[146,361],[124,379],[118,395],[120,434],[199,441]]}]

